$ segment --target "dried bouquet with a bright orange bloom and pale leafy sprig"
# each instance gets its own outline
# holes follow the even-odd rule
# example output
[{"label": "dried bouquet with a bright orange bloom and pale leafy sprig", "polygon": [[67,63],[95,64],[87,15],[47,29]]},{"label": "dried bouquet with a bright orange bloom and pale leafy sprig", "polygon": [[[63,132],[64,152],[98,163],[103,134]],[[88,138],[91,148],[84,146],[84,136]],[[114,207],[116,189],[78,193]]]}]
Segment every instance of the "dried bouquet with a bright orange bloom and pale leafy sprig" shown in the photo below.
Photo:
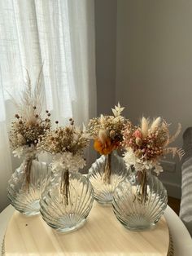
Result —
[{"label": "dried bouquet with a bright orange bloom and pale leafy sprig", "polygon": [[94,149],[101,155],[107,156],[104,182],[110,183],[111,177],[111,152],[120,147],[123,139],[122,130],[124,125],[129,123],[121,116],[124,108],[118,103],[115,108],[111,108],[114,116],[95,117],[89,120],[87,132],[90,138],[94,139]]}]

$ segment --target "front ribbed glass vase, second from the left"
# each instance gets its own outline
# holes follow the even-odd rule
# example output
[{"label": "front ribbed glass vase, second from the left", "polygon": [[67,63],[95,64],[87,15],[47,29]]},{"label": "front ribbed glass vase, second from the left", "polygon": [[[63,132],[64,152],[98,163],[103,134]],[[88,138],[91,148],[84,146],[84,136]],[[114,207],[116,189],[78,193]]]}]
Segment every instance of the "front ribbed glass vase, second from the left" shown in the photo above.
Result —
[{"label": "front ribbed glass vase, second from the left", "polygon": [[72,232],[85,224],[93,202],[93,188],[85,176],[60,170],[52,174],[41,196],[40,211],[50,227],[58,232]]}]

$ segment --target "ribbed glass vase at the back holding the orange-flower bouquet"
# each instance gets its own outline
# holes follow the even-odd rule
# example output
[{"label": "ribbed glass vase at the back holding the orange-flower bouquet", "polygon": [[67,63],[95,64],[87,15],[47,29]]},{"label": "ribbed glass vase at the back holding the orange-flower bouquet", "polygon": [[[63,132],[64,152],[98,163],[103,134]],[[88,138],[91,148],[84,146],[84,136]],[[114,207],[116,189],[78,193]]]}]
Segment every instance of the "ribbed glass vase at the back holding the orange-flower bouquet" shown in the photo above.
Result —
[{"label": "ribbed glass vase at the back holding the orange-flower bouquet", "polygon": [[99,157],[90,167],[88,174],[94,188],[94,199],[101,205],[110,206],[116,187],[128,173],[124,159],[118,156],[116,150]]}]

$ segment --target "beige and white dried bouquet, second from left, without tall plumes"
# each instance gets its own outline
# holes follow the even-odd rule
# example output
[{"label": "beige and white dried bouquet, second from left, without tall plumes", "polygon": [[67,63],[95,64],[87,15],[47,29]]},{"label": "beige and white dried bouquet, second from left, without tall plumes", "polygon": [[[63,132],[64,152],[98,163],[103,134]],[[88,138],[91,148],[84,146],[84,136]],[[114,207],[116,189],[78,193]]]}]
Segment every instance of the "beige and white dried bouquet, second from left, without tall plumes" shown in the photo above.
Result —
[{"label": "beige and white dried bouquet, second from left, without tall plumes", "polygon": [[[60,189],[67,205],[69,171],[78,171],[85,166],[83,153],[89,143],[85,131],[76,128],[72,118],[69,121],[70,126],[57,127],[55,130],[48,131],[46,135],[41,136],[37,144],[38,149],[50,152],[54,156],[52,170],[63,170]],[[58,121],[56,121],[56,124],[58,124]]]}]

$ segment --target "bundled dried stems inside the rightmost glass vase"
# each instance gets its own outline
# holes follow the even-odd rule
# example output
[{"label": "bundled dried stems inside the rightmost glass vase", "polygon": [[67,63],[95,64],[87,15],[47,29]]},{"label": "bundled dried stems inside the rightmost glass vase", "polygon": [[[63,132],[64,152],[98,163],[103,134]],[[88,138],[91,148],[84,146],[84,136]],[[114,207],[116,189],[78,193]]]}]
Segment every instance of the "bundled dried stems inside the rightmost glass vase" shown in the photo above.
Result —
[{"label": "bundled dried stems inside the rightmost glass vase", "polygon": [[138,171],[139,188],[137,191],[137,199],[141,203],[145,203],[148,199],[147,195],[147,182],[146,182],[146,171]]}]

